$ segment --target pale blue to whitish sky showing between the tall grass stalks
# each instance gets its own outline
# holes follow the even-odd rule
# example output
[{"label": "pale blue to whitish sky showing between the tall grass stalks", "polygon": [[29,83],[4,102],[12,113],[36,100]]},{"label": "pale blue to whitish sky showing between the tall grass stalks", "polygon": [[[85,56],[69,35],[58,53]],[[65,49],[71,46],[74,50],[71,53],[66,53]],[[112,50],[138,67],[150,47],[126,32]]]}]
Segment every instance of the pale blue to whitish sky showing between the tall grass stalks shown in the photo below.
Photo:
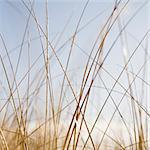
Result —
[{"label": "pale blue to whitish sky showing between the tall grass stalks", "polygon": [[[85,64],[88,59],[88,54],[90,53],[90,50],[93,46],[94,41],[96,40],[96,37],[100,30],[102,29],[103,25],[105,24],[106,20],[110,16],[113,6],[114,6],[113,0],[91,0],[83,14],[83,17],[81,19],[81,22],[79,24],[79,30],[81,31],[77,34],[75,45],[73,47],[72,55],[71,55],[71,61],[69,63],[70,72],[68,72],[68,76],[71,80],[71,83],[75,89],[75,91],[79,92],[79,85],[81,84],[81,79],[84,71]],[[125,1],[124,1],[125,2]],[[121,6],[125,3],[121,3]],[[125,25],[128,20],[133,16],[133,14],[145,3],[146,1],[143,0],[135,0],[132,2],[129,2],[127,8],[120,16],[120,22],[123,25]],[[30,7],[28,1],[25,1],[27,6]],[[79,18],[81,16],[82,10],[85,6],[86,1],[81,0],[49,0],[48,1],[48,30],[49,30],[49,41],[51,41],[52,45],[58,50],[58,56],[62,64],[65,66],[66,60],[68,57],[68,52],[71,46],[71,42],[68,42],[64,47],[61,48],[63,43],[73,35],[73,33],[76,30],[77,23],[79,21]],[[33,6],[37,20],[41,27],[45,30],[45,3],[42,0],[36,0],[35,4]],[[12,64],[14,66],[14,69],[16,68],[17,62],[18,62],[18,56],[19,56],[19,50],[21,47],[22,39],[24,36],[24,31],[27,25],[27,20],[29,17],[29,12],[25,5],[22,3],[21,0],[0,0],[0,34],[2,35],[7,49],[10,54],[10,58],[12,61]],[[94,19],[93,19],[94,18]],[[90,23],[88,23],[91,19],[93,19]],[[88,23],[88,25],[86,25]],[[124,51],[128,51],[128,55],[130,56],[133,51],[138,46],[139,41],[142,39],[142,37],[145,35],[147,30],[150,28],[149,24],[149,4],[147,4],[145,7],[140,9],[136,16],[133,18],[133,20],[128,24],[128,26],[125,29],[125,32],[123,32],[123,44],[121,44],[121,38],[119,38],[116,42],[116,44],[113,46],[109,56],[107,57],[104,67],[106,70],[108,70],[114,77],[118,77],[123,66],[124,66],[124,59],[123,59],[123,53]],[[82,27],[86,27],[82,29]],[[108,50],[111,48],[114,40],[117,38],[119,34],[119,21],[117,21],[111,32],[109,33],[105,45],[104,45],[104,56],[107,54]],[[60,36],[60,34],[62,36]],[[125,39],[125,35],[127,40]],[[38,56],[42,52],[41,44],[40,44],[40,38],[41,36],[42,41],[44,42],[44,36],[42,33],[37,32],[37,26],[35,23],[35,20],[32,16],[29,18],[29,24],[27,27],[27,34],[25,35],[24,39],[24,45],[22,47],[22,53],[21,53],[21,59],[19,62],[19,68],[17,71],[17,81],[19,82],[24,74],[28,71],[28,43],[30,43],[29,53],[30,53],[30,63],[33,64],[34,61],[38,58]],[[100,42],[101,39],[99,39]],[[149,43],[149,39],[147,38],[147,41]],[[146,45],[146,40],[142,43],[143,47]],[[4,45],[2,41],[0,40],[0,55],[2,56],[6,68],[9,74],[9,77],[11,79],[11,82],[13,80],[12,72],[10,65],[8,63],[8,58],[6,57],[6,51],[4,49]],[[96,45],[96,48],[98,47],[98,44]],[[96,50],[95,48],[95,50]],[[149,50],[148,50],[149,51]],[[126,52],[125,52],[126,53]],[[133,71],[134,73],[137,73],[140,67],[143,65],[144,62],[144,50],[140,46],[135,53],[134,57],[131,59],[131,64],[129,66],[129,70]],[[56,103],[57,98],[59,95],[57,93],[60,92],[60,82],[62,81],[62,70],[53,55],[53,52],[51,48],[49,48],[49,55],[52,55],[51,62],[51,70],[52,70],[52,78],[53,78],[53,86],[54,86],[54,93],[56,94]],[[128,56],[128,57],[129,57]],[[148,56],[148,55],[147,55]],[[149,64],[149,62],[148,62]],[[41,67],[43,67],[44,61],[43,57],[41,56],[39,60],[37,61],[36,65],[31,70],[31,79],[34,79],[37,76],[37,72],[40,70]],[[133,66],[133,68],[131,67]],[[133,69],[133,70],[132,70]],[[4,75],[4,71],[2,66],[0,65],[0,82],[1,84],[8,89],[6,77]],[[131,72],[130,72],[131,74]],[[147,82],[150,80],[149,72],[147,71]],[[58,77],[57,77],[58,76]],[[104,80],[106,86],[111,89],[114,80],[104,71],[101,71],[101,77]],[[142,78],[142,72],[139,74],[139,77]],[[40,78],[40,77],[37,77]],[[128,87],[128,81],[126,73],[123,73],[122,77],[120,78],[120,83],[124,85],[124,87]],[[136,86],[137,86],[137,95],[140,97],[141,94],[141,81],[140,79],[136,80]],[[149,82],[150,83],[150,82]],[[33,84],[31,87],[31,90],[34,90],[36,84]],[[68,86],[68,83],[65,82],[65,86]],[[92,89],[92,94],[90,96],[90,104],[89,104],[89,110],[87,113],[87,116],[90,118],[89,120],[94,120],[94,117],[97,115],[99,108],[102,106],[105,98],[108,96],[108,93],[103,88],[103,84],[101,81],[96,80],[94,82],[95,88]],[[19,87],[21,96],[24,95],[25,90],[27,87],[27,78],[23,80],[22,84]],[[96,88],[97,87],[97,88]],[[120,91],[121,93],[124,92],[124,90],[117,84],[114,88],[116,91]],[[149,89],[145,85],[145,89]],[[43,89],[44,90],[44,89]],[[42,103],[43,100],[43,90],[39,94],[38,99],[41,101],[41,106],[44,107],[44,104]],[[1,99],[7,98],[7,94],[3,91],[3,89],[0,90],[0,97]],[[135,93],[136,95],[136,93]],[[149,97],[149,94],[145,93],[144,97]],[[71,101],[73,98],[73,95],[71,94],[71,91],[68,90],[67,92],[67,99]],[[117,92],[112,93],[112,97],[115,98],[116,103],[119,103],[122,94],[118,94]],[[34,97],[33,97],[34,99]],[[123,112],[125,118],[129,117],[129,109],[128,107],[128,98],[124,98],[123,103],[121,104],[121,111]],[[2,100],[1,103],[4,103]],[[145,102],[143,102],[144,104]],[[64,103],[64,105],[67,104],[67,101]],[[75,103],[72,105],[74,106]],[[70,108],[70,113],[73,110],[73,107]],[[107,118],[109,120],[111,114],[113,113],[115,107],[114,104],[109,99],[108,104],[106,105],[106,108],[103,111],[103,118]],[[108,110],[110,113],[108,113]],[[42,112],[42,110],[41,110]],[[66,113],[66,112],[65,112]],[[106,119],[106,122],[108,120]],[[118,120],[118,116],[116,115],[116,120]],[[116,121],[115,120],[115,121]],[[104,121],[104,124],[106,123]],[[117,121],[116,121],[117,122]],[[115,124],[115,122],[114,122]],[[102,124],[102,126],[104,126]],[[115,126],[115,125],[113,125]]]}]

